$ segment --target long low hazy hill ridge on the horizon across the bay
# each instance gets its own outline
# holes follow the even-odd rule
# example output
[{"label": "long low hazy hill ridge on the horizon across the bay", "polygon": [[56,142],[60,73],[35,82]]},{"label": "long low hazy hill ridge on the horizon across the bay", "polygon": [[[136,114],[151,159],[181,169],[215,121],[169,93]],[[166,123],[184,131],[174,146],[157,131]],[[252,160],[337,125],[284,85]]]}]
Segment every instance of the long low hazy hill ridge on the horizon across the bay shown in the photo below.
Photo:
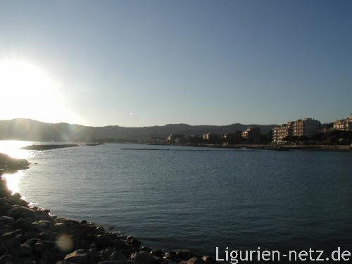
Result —
[{"label": "long low hazy hill ridge on the horizon across the bay", "polygon": [[[252,125],[187,125],[169,124],[151,127],[89,127],[67,123],[46,123],[37,120],[17,118],[0,121],[0,139],[45,141],[45,142],[89,142],[97,139],[137,140],[150,137],[166,137],[169,134],[201,135],[205,133],[225,134],[245,130]],[[275,125],[256,125],[262,134],[268,134]]]}]

